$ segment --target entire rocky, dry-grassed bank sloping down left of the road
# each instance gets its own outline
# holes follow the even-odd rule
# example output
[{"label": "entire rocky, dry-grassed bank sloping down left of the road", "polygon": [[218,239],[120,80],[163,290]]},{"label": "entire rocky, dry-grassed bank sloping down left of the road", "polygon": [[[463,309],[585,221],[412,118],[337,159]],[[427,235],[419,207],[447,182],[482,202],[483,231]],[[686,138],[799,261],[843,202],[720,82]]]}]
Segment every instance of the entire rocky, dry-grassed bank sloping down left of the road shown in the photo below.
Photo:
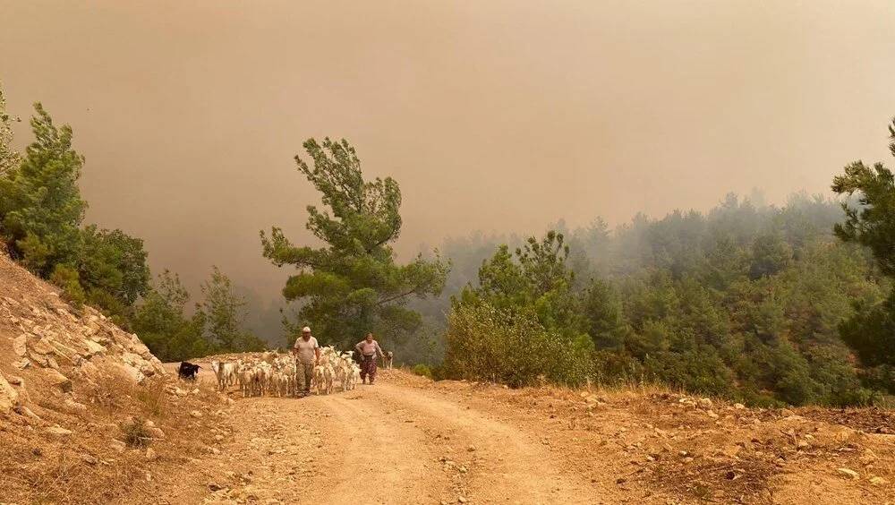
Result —
[{"label": "entire rocky, dry-grassed bank sloping down left of the road", "polygon": [[0,253],[0,503],[143,501],[222,407]]}]

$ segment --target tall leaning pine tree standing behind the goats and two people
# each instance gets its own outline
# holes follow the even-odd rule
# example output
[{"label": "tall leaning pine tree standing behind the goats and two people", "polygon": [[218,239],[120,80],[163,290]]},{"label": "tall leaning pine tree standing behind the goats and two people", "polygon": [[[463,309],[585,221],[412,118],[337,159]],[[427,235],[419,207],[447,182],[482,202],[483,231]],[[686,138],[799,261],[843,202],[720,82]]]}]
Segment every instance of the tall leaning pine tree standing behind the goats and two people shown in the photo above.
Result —
[{"label": "tall leaning pine tree standing behind the goats and two people", "polygon": [[315,249],[295,246],[278,227],[261,232],[264,257],[298,273],[286,281],[286,300],[299,302],[302,323],[323,342],[345,345],[367,331],[401,338],[421,324],[405,307],[410,296],[439,295],[449,262],[438,254],[418,255],[399,265],[391,247],[400,231],[401,191],[391,177],[364,181],[361,162],[345,140],[314,139],[303,144],[310,167],[296,156],[298,169],[321,193],[329,211],[308,206],[307,228],[326,243]]}]

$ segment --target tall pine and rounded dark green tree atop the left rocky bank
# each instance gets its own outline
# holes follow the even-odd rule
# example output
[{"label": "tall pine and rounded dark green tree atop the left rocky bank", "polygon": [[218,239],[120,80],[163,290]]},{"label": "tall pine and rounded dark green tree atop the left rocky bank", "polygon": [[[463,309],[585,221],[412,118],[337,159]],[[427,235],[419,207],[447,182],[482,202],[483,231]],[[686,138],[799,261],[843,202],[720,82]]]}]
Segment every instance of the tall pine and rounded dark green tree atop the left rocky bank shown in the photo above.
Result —
[{"label": "tall pine and rounded dark green tree atop the left rocky bank", "polygon": [[0,109],[0,234],[13,257],[64,287],[72,302],[98,305],[127,327],[133,304],[149,287],[143,243],[120,230],[81,229],[87,203],[77,180],[84,158],[72,150],[69,126],[56,127],[40,104],[35,111],[35,141],[19,159],[11,154],[9,117]]}]

